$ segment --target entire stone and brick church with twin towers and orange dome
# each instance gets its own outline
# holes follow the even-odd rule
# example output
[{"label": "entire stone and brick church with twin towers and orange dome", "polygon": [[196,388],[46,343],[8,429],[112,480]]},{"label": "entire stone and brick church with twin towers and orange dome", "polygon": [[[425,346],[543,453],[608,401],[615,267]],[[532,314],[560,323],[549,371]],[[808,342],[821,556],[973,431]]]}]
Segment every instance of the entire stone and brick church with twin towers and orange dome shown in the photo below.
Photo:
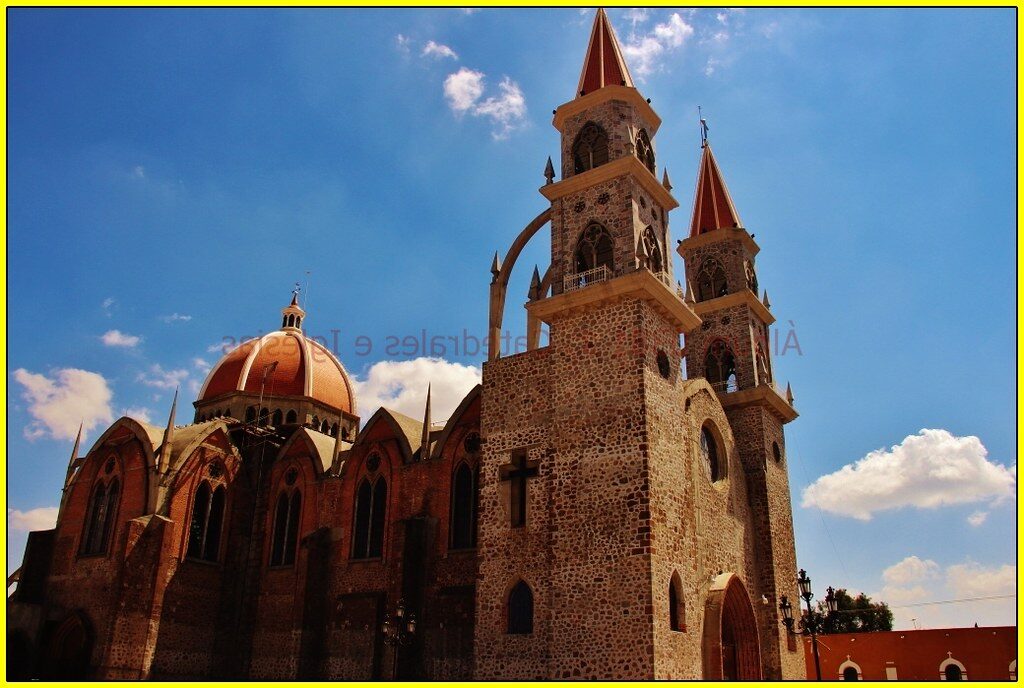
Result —
[{"label": "entire stone and brick church with twin towers and orange dome", "polygon": [[[429,394],[422,420],[361,422],[293,298],[193,423],[175,401],[166,427],[76,443],[8,600],[9,677],[803,678],[777,612],[797,413],[759,247],[705,141],[674,281],[659,125],[599,10],[550,207],[496,257],[483,381],[443,425]],[[548,223],[527,350],[501,356],[509,274]]]}]

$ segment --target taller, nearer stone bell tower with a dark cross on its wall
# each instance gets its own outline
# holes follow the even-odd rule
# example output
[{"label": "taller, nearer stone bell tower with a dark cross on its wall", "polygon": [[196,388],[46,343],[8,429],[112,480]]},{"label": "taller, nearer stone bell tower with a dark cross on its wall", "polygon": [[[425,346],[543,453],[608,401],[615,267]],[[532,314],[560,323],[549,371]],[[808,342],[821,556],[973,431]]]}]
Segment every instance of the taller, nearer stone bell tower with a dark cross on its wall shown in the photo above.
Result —
[{"label": "taller, nearer stone bell tower with a dark cross on its wall", "polygon": [[[666,675],[655,627],[668,630],[671,575],[654,570],[653,511],[666,507],[652,500],[666,498],[651,484],[666,480],[663,460],[683,464],[680,334],[699,318],[672,277],[678,203],[655,176],[660,120],[603,10],[553,124],[562,178],[549,165],[541,188],[551,266],[526,306],[549,344],[492,352],[483,368],[474,677],[650,679]],[[493,285],[521,244],[496,260]]]}]

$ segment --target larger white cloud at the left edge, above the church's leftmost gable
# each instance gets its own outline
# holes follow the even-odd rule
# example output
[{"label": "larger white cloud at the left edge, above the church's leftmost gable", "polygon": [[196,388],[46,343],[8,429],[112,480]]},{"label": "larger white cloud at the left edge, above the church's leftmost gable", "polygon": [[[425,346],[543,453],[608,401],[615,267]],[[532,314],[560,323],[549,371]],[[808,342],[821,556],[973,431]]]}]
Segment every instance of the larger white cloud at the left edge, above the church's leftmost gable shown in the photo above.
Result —
[{"label": "larger white cloud at the left edge, above the church's leftmost gable", "polygon": [[23,396],[35,419],[25,428],[25,436],[30,440],[46,435],[74,439],[79,424],[91,430],[97,423],[114,420],[113,392],[98,373],[65,368],[46,377],[19,368],[14,371],[14,380],[25,387]]}]

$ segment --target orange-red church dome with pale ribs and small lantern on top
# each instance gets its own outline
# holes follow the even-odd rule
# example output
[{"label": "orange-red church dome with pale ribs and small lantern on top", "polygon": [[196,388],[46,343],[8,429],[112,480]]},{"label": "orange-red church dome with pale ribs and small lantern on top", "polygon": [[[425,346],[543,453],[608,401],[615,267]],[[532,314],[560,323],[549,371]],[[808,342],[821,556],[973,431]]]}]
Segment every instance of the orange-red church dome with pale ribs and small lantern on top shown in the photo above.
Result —
[{"label": "orange-red church dome with pale ribs and small lantern on top", "polygon": [[330,349],[302,334],[305,311],[295,298],[283,313],[281,330],[244,342],[213,367],[197,403],[231,392],[259,394],[262,388],[268,397],[307,397],[354,413],[355,396],[345,368]]}]

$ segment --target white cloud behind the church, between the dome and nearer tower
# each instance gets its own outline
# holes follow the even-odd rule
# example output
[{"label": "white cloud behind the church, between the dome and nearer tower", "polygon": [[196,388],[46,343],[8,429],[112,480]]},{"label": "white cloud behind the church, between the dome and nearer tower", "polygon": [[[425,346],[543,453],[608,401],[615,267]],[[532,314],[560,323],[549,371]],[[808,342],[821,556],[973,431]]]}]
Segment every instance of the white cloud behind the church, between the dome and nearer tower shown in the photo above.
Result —
[{"label": "white cloud behind the church, between the dome and nearer tower", "polygon": [[447,419],[469,390],[479,384],[480,370],[443,358],[382,360],[352,382],[358,413],[364,419],[369,419],[380,406],[415,419],[423,418],[429,384],[431,417],[434,422],[440,422]]}]

